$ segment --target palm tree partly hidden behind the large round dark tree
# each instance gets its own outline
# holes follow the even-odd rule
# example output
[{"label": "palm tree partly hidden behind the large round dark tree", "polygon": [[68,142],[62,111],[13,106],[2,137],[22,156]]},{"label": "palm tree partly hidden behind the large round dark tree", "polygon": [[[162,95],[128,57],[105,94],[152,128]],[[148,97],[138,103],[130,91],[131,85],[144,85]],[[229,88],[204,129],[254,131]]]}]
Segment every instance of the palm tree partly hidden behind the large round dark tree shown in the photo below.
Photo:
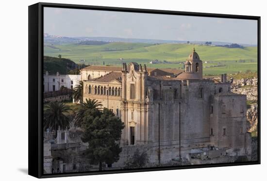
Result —
[{"label": "palm tree partly hidden behind the large round dark tree", "polygon": [[75,116],[75,125],[81,126],[83,121],[84,113],[88,110],[97,109],[99,110],[99,106],[102,106],[101,102],[96,99],[85,99],[85,102],[82,101],[79,107],[76,109],[76,116]]}]

